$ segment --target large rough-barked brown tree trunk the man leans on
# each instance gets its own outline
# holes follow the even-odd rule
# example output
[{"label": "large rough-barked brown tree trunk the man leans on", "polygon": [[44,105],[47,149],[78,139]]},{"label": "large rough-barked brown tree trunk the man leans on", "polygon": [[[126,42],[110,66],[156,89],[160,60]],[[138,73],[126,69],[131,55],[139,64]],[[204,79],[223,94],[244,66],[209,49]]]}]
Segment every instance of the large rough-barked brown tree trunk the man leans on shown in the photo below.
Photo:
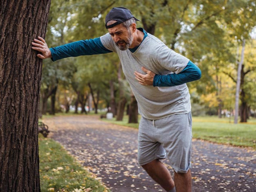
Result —
[{"label": "large rough-barked brown tree trunk the man leans on", "polygon": [[31,49],[45,38],[50,0],[0,6],[0,191],[39,192],[38,108],[42,60]]}]

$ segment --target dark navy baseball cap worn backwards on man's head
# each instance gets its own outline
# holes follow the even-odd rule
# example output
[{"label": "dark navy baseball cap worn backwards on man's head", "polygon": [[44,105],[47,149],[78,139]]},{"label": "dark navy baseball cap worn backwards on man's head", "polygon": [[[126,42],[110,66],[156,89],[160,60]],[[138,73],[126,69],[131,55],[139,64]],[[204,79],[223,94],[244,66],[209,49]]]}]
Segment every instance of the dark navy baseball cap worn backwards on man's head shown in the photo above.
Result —
[{"label": "dark navy baseball cap worn backwards on man's head", "polygon": [[[109,13],[107,14],[106,18],[105,18],[105,26],[106,29],[112,28],[116,25],[119,25],[120,23],[123,23],[125,21],[127,21],[128,19],[134,18],[135,20],[139,21],[139,19],[136,19],[130,10],[128,10],[127,8],[124,7],[114,7],[112,8],[112,10],[109,11]],[[112,25],[108,25],[107,23],[110,20],[116,20],[117,22],[112,24]]]}]

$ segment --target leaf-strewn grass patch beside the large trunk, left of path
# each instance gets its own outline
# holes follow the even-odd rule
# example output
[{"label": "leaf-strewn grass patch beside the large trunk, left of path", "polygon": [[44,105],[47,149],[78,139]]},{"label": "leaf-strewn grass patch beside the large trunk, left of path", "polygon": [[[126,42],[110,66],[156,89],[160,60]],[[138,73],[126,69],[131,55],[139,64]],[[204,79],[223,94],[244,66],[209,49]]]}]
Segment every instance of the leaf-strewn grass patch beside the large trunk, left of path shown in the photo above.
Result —
[{"label": "leaf-strewn grass patch beside the large trunk, left of path", "polygon": [[108,192],[57,142],[39,134],[42,192]]}]

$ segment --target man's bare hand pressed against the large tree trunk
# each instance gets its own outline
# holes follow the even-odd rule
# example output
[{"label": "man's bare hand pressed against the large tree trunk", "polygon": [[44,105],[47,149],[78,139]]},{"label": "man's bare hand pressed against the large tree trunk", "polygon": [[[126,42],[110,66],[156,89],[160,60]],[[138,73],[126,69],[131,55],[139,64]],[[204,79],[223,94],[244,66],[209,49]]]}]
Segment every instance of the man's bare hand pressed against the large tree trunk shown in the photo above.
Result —
[{"label": "man's bare hand pressed against the large tree trunk", "polygon": [[37,54],[37,57],[39,57],[40,59],[46,59],[46,58],[52,57],[52,53],[50,52],[48,45],[46,44],[45,40],[42,37],[38,37],[38,39],[34,39],[34,42],[32,42],[32,45],[33,45],[32,49],[42,53],[42,54]]}]

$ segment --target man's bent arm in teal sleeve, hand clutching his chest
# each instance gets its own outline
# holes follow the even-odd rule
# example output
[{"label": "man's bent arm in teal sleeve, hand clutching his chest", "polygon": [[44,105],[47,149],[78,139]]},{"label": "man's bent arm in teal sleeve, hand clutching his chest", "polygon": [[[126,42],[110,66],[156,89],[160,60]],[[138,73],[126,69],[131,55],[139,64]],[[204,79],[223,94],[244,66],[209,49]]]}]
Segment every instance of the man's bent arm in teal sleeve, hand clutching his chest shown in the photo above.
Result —
[{"label": "man's bent arm in teal sleeve, hand clutching his chest", "polygon": [[187,66],[178,74],[158,75],[144,67],[142,70],[147,74],[143,75],[135,72],[135,78],[142,85],[153,85],[154,87],[176,86],[201,78],[201,70],[192,61],[189,61]]}]

